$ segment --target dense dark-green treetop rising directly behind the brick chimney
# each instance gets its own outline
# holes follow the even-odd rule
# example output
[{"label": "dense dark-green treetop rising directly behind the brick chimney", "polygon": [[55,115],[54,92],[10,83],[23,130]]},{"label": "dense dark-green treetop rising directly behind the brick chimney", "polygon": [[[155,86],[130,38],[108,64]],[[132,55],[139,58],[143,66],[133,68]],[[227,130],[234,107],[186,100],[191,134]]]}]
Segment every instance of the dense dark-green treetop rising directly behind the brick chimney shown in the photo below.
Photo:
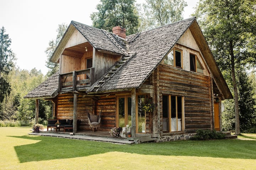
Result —
[{"label": "dense dark-green treetop rising directly behind the brick chimney", "polygon": [[96,28],[112,32],[112,28],[126,28],[126,34],[138,32],[138,12],[135,0],[101,0],[97,5],[98,12],[91,14],[92,25]]}]

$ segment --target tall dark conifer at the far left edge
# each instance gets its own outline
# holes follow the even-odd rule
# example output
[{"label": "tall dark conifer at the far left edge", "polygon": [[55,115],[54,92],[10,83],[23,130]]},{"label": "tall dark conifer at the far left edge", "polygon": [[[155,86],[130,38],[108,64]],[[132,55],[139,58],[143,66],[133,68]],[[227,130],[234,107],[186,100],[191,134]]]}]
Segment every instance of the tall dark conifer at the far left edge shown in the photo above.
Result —
[{"label": "tall dark conifer at the far left edge", "polygon": [[15,57],[10,49],[10,45],[11,39],[8,34],[5,34],[5,28],[2,27],[0,29],[0,103],[11,93],[8,74],[11,71]]}]

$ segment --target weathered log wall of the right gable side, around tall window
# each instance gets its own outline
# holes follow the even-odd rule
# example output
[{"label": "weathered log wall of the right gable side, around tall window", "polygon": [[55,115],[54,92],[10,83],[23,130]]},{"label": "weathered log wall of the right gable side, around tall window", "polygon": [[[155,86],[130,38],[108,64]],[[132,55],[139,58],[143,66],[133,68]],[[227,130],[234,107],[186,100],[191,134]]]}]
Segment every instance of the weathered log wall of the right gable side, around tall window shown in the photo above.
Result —
[{"label": "weathered log wall of the right gable side, around tall window", "polygon": [[[197,129],[210,129],[212,119],[212,93],[210,77],[188,72],[175,67],[159,66],[160,103],[162,94],[184,96],[185,130],[194,132]],[[162,109],[160,106],[160,121]],[[162,131],[162,123],[160,123]]]}]

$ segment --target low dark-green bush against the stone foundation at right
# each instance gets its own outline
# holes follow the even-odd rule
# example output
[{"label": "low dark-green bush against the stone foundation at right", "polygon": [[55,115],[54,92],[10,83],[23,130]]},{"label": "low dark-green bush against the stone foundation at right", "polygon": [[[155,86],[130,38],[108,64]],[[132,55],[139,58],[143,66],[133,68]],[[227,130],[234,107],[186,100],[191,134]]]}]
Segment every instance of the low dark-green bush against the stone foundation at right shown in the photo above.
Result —
[{"label": "low dark-green bush against the stone foundation at right", "polygon": [[190,140],[211,140],[211,139],[224,139],[226,134],[222,132],[216,132],[216,130],[202,130],[196,131],[196,135],[190,138]]}]

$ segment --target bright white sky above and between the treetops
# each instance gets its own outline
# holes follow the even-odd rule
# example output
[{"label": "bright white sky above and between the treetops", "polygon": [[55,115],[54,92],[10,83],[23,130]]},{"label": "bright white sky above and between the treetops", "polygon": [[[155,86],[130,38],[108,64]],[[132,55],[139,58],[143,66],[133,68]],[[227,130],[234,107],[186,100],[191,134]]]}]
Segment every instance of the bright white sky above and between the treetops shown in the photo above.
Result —
[{"label": "bright white sky above and between the treetops", "polygon": [[[199,0],[185,0],[183,18],[190,18]],[[59,24],[77,21],[91,26],[90,14],[100,0],[0,0],[0,27],[9,34],[16,67],[48,71],[45,50],[57,36]],[[145,0],[137,0],[145,3]]]}]

